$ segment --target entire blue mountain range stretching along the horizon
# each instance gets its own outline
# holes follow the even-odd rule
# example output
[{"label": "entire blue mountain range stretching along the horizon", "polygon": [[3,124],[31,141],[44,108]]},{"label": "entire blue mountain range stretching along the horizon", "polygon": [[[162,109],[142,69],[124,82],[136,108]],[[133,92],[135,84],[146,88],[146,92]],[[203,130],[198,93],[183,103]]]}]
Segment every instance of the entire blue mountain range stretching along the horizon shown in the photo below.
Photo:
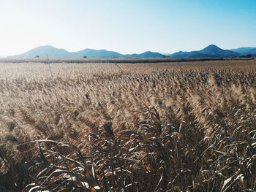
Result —
[{"label": "entire blue mountain range stretching along the horizon", "polygon": [[78,52],[69,52],[50,45],[39,46],[20,55],[12,55],[7,58],[234,58],[243,55],[256,57],[256,47],[240,47],[237,49],[223,50],[216,45],[208,45],[203,50],[184,52],[179,51],[173,54],[161,54],[146,51],[140,54],[121,54],[109,50],[84,49]]}]

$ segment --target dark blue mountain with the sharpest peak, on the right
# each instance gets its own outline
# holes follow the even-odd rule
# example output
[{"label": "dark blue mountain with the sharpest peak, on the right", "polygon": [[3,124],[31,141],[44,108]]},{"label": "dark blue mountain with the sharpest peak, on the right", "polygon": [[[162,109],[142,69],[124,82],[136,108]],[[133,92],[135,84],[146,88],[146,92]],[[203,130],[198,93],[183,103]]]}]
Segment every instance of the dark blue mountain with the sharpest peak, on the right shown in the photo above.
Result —
[{"label": "dark blue mountain with the sharpest peak, on the right", "polygon": [[172,58],[233,58],[240,56],[232,50],[222,50],[216,45],[208,45],[203,50],[183,52],[179,51],[170,55]]}]

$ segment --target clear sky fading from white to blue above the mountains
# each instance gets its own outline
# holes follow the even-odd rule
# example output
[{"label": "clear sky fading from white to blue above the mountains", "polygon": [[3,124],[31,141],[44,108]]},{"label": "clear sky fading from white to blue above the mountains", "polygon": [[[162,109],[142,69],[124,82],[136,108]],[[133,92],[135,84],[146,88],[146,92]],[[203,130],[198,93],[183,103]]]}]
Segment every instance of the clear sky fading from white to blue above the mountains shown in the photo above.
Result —
[{"label": "clear sky fading from white to blue above the mountains", "polygon": [[255,0],[0,0],[0,56],[68,51],[174,53],[256,47]]}]

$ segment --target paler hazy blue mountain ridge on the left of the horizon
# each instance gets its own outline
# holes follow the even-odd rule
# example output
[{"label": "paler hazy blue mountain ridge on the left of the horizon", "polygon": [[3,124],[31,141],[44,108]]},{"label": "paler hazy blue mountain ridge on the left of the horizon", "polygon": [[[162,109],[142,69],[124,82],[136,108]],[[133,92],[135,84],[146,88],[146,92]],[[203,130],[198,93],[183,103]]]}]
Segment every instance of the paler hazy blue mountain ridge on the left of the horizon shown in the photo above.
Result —
[{"label": "paler hazy blue mountain ridge on the left of the horizon", "polygon": [[20,55],[12,55],[7,58],[165,58],[165,55],[160,53],[154,53],[147,51],[141,54],[121,54],[114,51],[108,50],[93,50],[93,49],[84,49],[78,52],[68,52],[64,49],[59,49],[50,45],[39,46],[32,50],[22,53]]}]

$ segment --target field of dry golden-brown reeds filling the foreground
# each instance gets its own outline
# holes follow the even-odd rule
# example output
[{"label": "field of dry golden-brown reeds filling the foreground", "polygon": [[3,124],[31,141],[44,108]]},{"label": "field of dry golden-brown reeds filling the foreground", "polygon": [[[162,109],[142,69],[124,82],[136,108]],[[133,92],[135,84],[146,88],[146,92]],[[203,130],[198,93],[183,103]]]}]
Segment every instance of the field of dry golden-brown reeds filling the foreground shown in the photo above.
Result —
[{"label": "field of dry golden-brown reeds filling the foreground", "polygon": [[256,60],[0,63],[0,191],[256,191]]}]

